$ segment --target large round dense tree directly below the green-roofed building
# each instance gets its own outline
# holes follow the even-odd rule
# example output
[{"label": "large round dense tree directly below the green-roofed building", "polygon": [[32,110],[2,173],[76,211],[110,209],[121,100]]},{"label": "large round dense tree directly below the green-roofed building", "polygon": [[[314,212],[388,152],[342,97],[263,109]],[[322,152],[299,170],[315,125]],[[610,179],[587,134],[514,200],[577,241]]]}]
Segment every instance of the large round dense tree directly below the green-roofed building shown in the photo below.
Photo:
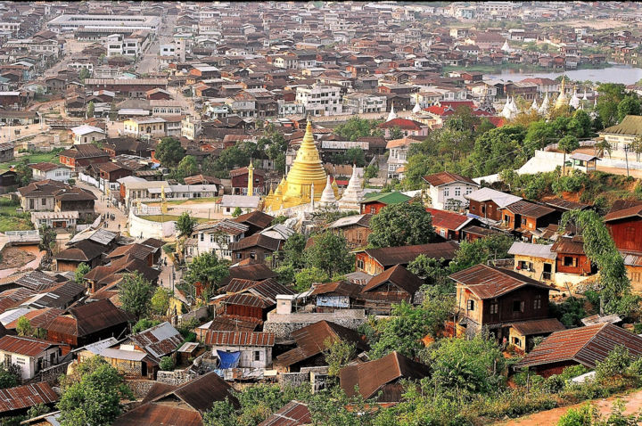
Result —
[{"label": "large round dense tree directly below the green-roofed building", "polygon": [[432,242],[435,237],[432,216],[421,201],[390,204],[370,220],[371,247],[399,247]]}]

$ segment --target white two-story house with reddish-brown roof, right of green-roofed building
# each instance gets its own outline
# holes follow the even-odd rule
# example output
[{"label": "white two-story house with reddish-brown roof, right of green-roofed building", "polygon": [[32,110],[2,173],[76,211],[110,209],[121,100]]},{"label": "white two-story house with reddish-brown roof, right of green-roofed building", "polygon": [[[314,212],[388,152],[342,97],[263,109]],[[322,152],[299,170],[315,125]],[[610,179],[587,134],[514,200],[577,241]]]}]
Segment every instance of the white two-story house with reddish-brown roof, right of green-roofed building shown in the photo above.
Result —
[{"label": "white two-story house with reddish-brown roof, right of green-roofed building", "polygon": [[480,188],[470,177],[450,172],[424,176],[424,181],[430,185],[432,207],[440,210],[465,208],[468,205],[465,195]]}]

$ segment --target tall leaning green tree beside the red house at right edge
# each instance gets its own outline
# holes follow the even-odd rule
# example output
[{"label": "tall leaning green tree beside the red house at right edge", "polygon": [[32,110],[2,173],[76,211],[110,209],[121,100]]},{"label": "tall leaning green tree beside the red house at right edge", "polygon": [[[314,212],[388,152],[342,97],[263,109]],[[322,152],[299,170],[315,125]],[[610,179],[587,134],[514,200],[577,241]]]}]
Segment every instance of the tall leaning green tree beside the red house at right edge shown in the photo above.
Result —
[{"label": "tall leaning green tree beside the red house at right edge", "polygon": [[584,252],[600,271],[605,312],[628,315],[637,304],[630,293],[624,259],[615,247],[604,220],[593,210],[570,210],[562,216],[562,227],[575,225],[584,239]]}]

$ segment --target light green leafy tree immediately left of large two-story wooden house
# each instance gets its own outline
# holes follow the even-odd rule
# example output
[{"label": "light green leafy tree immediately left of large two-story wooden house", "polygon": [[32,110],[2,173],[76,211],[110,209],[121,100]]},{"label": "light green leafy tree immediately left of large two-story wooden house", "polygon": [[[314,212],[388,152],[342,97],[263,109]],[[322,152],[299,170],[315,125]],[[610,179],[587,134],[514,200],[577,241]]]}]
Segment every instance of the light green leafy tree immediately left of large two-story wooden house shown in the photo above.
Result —
[{"label": "light green leafy tree immediately left of large two-story wooden house", "polygon": [[422,339],[428,334],[437,336],[454,306],[455,299],[451,295],[440,294],[434,288],[424,291],[424,301],[418,307],[405,301],[393,305],[391,316],[379,319],[374,325],[370,357],[380,358],[393,350],[416,357],[424,348]]}]

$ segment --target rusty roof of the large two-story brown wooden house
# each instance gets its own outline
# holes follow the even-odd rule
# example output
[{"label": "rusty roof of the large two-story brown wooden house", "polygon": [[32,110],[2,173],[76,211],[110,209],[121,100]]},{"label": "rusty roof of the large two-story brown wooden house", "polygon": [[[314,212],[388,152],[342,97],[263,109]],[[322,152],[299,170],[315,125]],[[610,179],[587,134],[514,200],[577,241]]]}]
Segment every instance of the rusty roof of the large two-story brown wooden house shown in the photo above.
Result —
[{"label": "rusty roof of the large two-story brown wooden house", "polygon": [[493,299],[510,291],[522,288],[525,285],[539,287],[540,289],[556,290],[544,283],[533,280],[517,272],[488,265],[475,265],[455,274],[449,278],[473,291],[480,299]]}]

